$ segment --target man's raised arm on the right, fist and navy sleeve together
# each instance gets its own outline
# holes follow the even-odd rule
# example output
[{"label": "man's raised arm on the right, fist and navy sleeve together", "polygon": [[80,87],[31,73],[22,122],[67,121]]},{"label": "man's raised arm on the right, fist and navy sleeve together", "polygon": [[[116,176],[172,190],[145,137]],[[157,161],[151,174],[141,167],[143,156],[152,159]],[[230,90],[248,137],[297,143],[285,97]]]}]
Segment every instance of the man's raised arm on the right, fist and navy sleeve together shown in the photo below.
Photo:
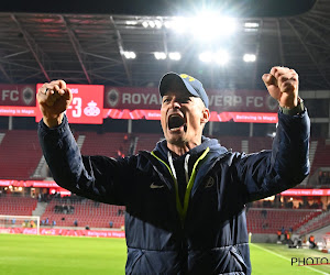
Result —
[{"label": "man's raised arm on the right, fist and navy sleeve together", "polygon": [[310,121],[298,97],[298,75],[289,68],[273,67],[263,80],[278,101],[278,124],[272,151],[232,156],[245,202],[294,187],[309,173]]}]

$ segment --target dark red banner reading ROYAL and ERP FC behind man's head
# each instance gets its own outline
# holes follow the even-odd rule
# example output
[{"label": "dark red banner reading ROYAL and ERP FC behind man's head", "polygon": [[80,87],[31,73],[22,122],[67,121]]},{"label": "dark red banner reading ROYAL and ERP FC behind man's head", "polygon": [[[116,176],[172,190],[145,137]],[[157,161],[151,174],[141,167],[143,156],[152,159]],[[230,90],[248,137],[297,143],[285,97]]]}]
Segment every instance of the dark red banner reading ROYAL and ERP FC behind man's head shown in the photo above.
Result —
[{"label": "dark red banner reading ROYAL and ERP FC behind man's head", "polygon": [[[278,103],[266,90],[207,90],[209,109],[216,112],[277,112]],[[105,88],[107,109],[158,110],[162,98],[157,88]]]}]

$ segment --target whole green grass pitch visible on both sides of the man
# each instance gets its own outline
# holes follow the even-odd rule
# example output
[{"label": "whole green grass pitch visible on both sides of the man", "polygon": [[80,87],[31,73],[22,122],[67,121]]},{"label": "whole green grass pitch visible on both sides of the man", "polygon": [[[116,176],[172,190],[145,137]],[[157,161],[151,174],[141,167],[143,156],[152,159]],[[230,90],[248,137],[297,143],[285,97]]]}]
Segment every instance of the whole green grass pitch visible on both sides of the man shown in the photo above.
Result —
[{"label": "whole green grass pitch visible on both sides of the man", "polygon": [[[292,257],[327,257],[285,245],[251,244],[252,274],[330,274],[330,265],[292,266]],[[0,274],[124,274],[124,239],[0,234]]]}]

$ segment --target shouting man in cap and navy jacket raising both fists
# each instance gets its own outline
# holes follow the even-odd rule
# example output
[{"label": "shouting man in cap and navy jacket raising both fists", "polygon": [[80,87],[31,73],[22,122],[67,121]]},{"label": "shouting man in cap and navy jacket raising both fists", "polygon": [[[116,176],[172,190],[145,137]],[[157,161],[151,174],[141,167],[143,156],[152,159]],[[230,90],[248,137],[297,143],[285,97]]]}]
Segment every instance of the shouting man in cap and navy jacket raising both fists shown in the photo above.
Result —
[{"label": "shouting man in cap and navy jacket raising both fists", "polygon": [[298,75],[263,76],[279,103],[272,151],[231,153],[202,136],[210,112],[200,81],[166,74],[160,85],[165,140],[125,158],[81,156],[64,111],[63,80],[37,92],[40,142],[56,183],[97,201],[122,205],[127,274],[251,274],[245,204],[298,185],[309,173],[309,118]]}]

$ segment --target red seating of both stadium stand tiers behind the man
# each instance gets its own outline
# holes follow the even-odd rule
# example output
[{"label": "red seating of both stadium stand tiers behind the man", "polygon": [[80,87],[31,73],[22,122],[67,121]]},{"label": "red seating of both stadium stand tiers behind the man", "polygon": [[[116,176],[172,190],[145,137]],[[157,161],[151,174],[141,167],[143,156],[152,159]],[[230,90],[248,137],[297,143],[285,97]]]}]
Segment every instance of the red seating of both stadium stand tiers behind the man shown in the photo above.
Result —
[{"label": "red seating of both stadium stand tiers behind the man", "polygon": [[[42,152],[37,142],[36,131],[12,130],[6,131],[0,144],[0,174],[1,178],[29,179],[37,166]],[[162,134],[146,133],[96,133],[96,132],[75,132],[76,140],[81,138],[81,152],[86,155],[107,155],[119,156],[128,155],[133,141],[136,141],[135,151],[152,151],[154,145],[163,139]],[[84,139],[82,139],[84,138]],[[213,136],[222,145],[232,151],[253,153],[263,148],[271,148],[272,138],[249,138],[249,136]],[[319,167],[330,167],[330,145],[326,140],[318,140],[315,162],[311,172]],[[20,202],[19,202],[20,201]],[[73,227],[77,220],[79,227],[109,228],[111,221],[113,228],[124,224],[123,215],[118,215],[122,207],[95,204],[90,200],[69,201],[74,207],[74,212],[56,212],[55,207],[68,205],[67,200],[53,199],[41,220],[48,218],[50,223],[55,220],[58,227]],[[32,215],[36,207],[36,200],[32,198],[0,198],[1,215]],[[263,210],[266,210],[266,216]],[[279,228],[299,229],[301,232],[309,232],[319,228],[321,224],[329,223],[330,216],[320,216],[320,211],[315,209],[268,209],[250,208],[248,212],[248,229],[252,233],[275,233]],[[320,216],[320,217],[319,217]],[[314,219],[319,217],[317,219]],[[322,218],[322,219],[321,219]],[[311,222],[312,220],[312,222]],[[307,227],[308,226],[308,227]],[[304,231],[302,231],[304,230]]]}]

